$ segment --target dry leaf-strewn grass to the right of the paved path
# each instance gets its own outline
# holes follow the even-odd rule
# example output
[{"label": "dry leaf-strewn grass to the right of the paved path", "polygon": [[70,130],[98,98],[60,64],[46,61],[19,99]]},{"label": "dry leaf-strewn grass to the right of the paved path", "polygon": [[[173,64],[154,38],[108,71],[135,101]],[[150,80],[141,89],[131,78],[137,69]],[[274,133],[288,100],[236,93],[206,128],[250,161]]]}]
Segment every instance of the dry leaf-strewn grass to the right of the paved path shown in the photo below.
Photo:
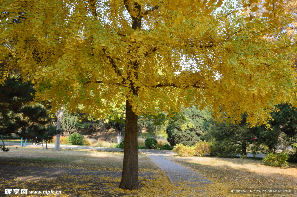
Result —
[{"label": "dry leaf-strewn grass to the right of the paved path", "polygon": [[[265,166],[262,161],[252,159],[175,156],[169,158],[213,181],[214,187],[208,188],[211,192],[220,190],[227,194],[228,189],[231,188],[247,189],[249,187],[297,190],[297,164],[289,164],[289,168],[276,168]],[[274,196],[283,195],[275,194]]]}]

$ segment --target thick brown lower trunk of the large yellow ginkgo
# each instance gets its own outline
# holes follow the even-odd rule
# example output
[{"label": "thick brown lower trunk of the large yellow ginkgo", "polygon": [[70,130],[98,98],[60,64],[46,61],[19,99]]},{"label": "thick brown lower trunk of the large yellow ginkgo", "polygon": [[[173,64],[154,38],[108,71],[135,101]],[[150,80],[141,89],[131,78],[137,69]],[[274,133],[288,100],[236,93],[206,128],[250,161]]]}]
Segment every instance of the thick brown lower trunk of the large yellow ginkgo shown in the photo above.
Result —
[{"label": "thick brown lower trunk of the large yellow ginkgo", "polygon": [[138,116],[132,111],[132,106],[126,100],[124,162],[122,179],[119,186],[124,190],[139,189],[137,121]]}]

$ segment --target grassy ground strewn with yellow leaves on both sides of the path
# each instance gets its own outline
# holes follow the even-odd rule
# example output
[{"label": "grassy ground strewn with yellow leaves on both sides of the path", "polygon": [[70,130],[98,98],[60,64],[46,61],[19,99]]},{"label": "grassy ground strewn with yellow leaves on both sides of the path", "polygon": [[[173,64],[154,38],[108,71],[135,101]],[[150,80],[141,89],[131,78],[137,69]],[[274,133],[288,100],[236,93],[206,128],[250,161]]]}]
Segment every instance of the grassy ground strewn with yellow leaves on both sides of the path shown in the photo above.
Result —
[{"label": "grassy ground strewn with yellow leaves on both sides of the path", "polygon": [[[214,184],[192,187],[188,183],[170,183],[146,154],[139,153],[140,189],[118,188],[121,180],[123,153],[95,150],[67,150],[11,147],[0,153],[1,190],[61,190],[61,195],[48,196],[289,196],[294,195],[231,195],[230,188],[295,188],[296,165],[279,169],[264,166],[261,161],[200,157],[169,157],[206,176]],[[30,196],[37,194],[11,195]],[[47,196],[40,194],[40,196]]]}]

